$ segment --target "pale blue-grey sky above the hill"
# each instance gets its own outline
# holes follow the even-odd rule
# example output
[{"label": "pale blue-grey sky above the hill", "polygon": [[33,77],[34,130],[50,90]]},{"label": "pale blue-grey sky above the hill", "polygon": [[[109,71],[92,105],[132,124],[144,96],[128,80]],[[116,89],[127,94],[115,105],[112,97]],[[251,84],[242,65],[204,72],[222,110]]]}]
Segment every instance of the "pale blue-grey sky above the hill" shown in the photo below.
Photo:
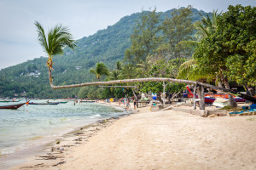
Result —
[{"label": "pale blue-grey sky above the hill", "polygon": [[0,0],[0,70],[46,56],[37,39],[35,20],[45,31],[56,24],[67,26],[78,40],[149,8],[164,12],[192,5],[206,12],[225,12],[236,4],[255,7],[256,0]]}]

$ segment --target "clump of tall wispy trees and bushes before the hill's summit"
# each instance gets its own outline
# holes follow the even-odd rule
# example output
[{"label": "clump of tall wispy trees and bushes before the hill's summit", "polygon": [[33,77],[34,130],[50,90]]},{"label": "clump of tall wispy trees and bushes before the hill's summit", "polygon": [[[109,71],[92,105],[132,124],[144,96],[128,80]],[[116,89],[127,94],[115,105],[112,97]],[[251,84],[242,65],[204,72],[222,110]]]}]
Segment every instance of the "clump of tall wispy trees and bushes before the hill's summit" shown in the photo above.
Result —
[{"label": "clump of tall wispy trees and bushes before the hill's summit", "polygon": [[[177,44],[193,40],[192,8],[189,6],[174,9],[169,16],[166,15],[165,20],[161,22],[160,15],[155,14],[155,9],[142,14],[131,35],[131,48],[125,53],[127,65],[134,65],[129,68],[130,72],[135,72],[132,78],[175,78],[179,66],[191,58],[193,48],[183,48]],[[163,82],[140,82],[138,85],[141,91],[155,93],[160,99]],[[179,90],[183,88],[177,87],[181,87]],[[165,89],[167,92],[172,91],[170,88]]]}]

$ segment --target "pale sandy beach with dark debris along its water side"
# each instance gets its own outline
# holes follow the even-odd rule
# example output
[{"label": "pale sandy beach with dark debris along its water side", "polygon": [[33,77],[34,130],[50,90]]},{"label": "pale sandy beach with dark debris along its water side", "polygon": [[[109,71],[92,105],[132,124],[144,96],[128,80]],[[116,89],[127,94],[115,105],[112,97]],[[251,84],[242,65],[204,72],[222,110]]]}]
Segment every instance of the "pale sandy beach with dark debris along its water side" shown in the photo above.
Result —
[{"label": "pale sandy beach with dark debris along its water side", "polygon": [[81,127],[11,169],[256,169],[256,116],[150,112]]}]

